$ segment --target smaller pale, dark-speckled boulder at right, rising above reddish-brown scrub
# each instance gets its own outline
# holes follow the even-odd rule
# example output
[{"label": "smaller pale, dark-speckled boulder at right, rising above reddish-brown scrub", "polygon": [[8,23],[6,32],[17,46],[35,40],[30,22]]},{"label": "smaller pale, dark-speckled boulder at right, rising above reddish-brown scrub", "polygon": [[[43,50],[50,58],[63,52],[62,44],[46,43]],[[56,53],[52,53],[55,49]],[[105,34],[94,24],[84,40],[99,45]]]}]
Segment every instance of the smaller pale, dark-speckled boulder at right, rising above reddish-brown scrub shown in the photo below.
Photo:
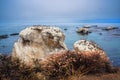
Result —
[{"label": "smaller pale, dark-speckled boulder at right, rising above reddish-brown scrub", "polygon": [[105,63],[110,63],[104,50],[102,50],[95,42],[87,40],[79,40],[74,43],[74,49],[78,53],[82,53],[87,57],[98,55],[98,58]]}]

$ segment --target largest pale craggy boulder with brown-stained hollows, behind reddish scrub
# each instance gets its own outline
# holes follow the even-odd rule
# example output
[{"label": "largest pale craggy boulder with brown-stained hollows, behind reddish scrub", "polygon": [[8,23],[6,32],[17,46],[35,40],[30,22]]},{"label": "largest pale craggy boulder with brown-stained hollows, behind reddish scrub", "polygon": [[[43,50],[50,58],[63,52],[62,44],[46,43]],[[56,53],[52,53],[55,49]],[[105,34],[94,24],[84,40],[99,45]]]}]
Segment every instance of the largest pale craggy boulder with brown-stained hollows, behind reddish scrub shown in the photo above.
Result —
[{"label": "largest pale craggy boulder with brown-stained hollows, behind reddish scrub", "polygon": [[26,65],[35,65],[35,60],[44,59],[49,54],[67,50],[65,35],[58,27],[33,26],[20,32],[15,42],[12,59],[18,58]]}]

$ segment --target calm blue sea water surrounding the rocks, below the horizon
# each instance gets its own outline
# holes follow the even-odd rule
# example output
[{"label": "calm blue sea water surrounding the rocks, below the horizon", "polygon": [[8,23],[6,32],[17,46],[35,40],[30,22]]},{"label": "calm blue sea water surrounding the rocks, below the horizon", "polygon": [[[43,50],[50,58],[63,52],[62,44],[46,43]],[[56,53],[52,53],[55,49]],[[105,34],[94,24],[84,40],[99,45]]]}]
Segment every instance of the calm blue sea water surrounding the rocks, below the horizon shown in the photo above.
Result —
[{"label": "calm blue sea water surrounding the rocks, below the horizon", "polygon": [[[89,35],[80,35],[76,33],[77,27],[83,25],[98,25],[98,27],[108,27],[110,25],[119,27],[118,30],[103,31],[101,29],[92,29]],[[65,43],[69,49],[73,49],[75,41],[80,39],[93,40],[104,49],[110,57],[115,66],[120,66],[120,36],[113,34],[120,34],[120,23],[2,23],[0,24],[0,35],[20,32],[31,25],[55,25],[62,29],[65,33]],[[64,30],[67,28],[67,30]],[[102,33],[102,35],[100,35]],[[0,53],[11,54],[14,42],[19,36],[10,36],[6,39],[0,39]]]}]

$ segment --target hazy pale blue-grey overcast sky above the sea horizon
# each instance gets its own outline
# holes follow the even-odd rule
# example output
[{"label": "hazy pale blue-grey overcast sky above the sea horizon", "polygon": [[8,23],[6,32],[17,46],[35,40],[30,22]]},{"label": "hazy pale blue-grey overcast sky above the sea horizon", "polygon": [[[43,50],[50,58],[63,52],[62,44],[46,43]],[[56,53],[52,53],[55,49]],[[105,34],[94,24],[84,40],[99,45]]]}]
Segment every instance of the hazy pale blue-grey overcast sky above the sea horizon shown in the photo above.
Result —
[{"label": "hazy pale blue-grey overcast sky above the sea horizon", "polygon": [[0,20],[120,19],[120,0],[0,0]]}]

